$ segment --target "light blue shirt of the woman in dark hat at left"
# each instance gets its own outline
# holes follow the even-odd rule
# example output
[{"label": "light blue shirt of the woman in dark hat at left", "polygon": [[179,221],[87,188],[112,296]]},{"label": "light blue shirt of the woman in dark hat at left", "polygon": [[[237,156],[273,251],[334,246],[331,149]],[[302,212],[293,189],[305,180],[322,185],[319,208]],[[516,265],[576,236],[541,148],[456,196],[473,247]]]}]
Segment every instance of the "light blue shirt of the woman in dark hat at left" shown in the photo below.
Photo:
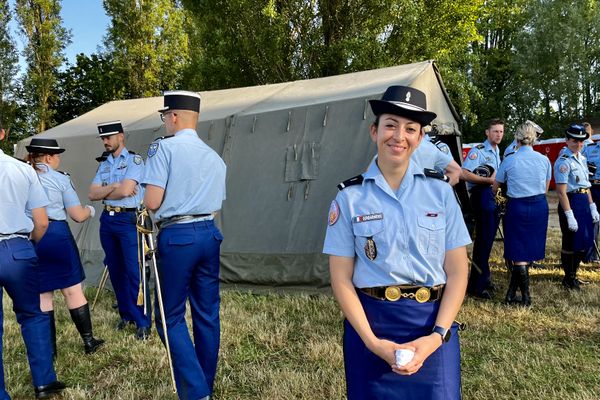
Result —
[{"label": "light blue shirt of the woman in dark hat at left", "polygon": [[66,220],[67,213],[65,209],[81,204],[71,183],[71,178],[69,175],[55,171],[43,163],[36,164],[36,167],[41,169],[38,176],[46,191],[48,200],[50,200],[50,204],[46,206],[48,218],[57,221]]}]

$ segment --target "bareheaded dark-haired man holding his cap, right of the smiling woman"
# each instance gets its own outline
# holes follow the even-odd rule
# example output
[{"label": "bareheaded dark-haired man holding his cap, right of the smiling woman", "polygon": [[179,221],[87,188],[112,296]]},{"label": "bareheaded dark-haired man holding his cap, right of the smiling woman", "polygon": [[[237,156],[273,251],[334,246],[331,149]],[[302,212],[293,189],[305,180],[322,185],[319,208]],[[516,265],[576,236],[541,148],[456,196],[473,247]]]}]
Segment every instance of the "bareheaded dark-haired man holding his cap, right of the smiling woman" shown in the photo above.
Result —
[{"label": "bareheaded dark-haired man holding his cap, right of the smiling woman", "polygon": [[473,147],[463,163],[461,178],[467,181],[471,206],[475,215],[475,243],[473,263],[467,291],[472,296],[491,299],[494,288],[490,273],[489,258],[500,223],[492,185],[495,171],[500,166],[498,144],[504,136],[504,122],[492,119],[485,130],[487,139]]}]

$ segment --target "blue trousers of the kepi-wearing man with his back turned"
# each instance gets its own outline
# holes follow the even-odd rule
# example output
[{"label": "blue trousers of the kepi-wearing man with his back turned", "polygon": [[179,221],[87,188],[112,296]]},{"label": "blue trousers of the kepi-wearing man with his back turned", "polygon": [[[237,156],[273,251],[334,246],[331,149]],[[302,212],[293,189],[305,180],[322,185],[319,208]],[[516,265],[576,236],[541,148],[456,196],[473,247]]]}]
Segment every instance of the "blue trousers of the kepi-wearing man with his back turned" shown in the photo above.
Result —
[{"label": "blue trousers of the kepi-wearing man with his back turned", "polygon": [[[158,236],[159,278],[180,399],[196,400],[212,393],[220,343],[222,240],[213,221],[169,225]],[[187,300],[192,313],[193,342],[185,322]],[[164,342],[157,302],[155,321]]]}]

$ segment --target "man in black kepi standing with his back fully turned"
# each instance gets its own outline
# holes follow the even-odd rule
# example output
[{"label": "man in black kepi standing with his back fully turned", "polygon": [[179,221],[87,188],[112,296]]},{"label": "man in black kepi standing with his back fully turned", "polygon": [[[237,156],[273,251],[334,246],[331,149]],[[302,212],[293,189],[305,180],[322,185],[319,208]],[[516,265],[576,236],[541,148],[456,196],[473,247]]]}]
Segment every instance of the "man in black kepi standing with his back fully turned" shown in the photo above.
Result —
[{"label": "man in black kepi standing with his back fully turned", "polygon": [[[219,352],[223,236],[213,218],[225,199],[226,167],[196,133],[200,95],[166,92],[159,112],[171,136],[148,148],[144,204],[160,229],[159,275],[177,392],[180,399],[204,399],[212,393]],[[188,299],[193,341],[185,322]]]}]

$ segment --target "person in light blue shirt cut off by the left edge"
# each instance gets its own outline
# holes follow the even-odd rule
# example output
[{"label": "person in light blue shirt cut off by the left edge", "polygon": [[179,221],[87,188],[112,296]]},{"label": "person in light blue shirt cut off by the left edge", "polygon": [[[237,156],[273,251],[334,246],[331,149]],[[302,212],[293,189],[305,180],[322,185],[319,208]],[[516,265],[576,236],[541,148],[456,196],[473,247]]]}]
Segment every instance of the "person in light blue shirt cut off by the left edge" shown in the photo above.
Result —
[{"label": "person in light blue shirt cut off by the left edge", "polygon": [[[0,140],[4,140],[4,135],[0,124]],[[56,380],[52,366],[50,317],[40,309],[38,260],[32,244],[48,228],[45,207],[49,201],[34,169],[1,149],[0,187],[0,399],[10,399],[4,386],[2,362],[2,289],[12,299],[21,326],[35,398],[45,399],[66,387]]]}]

